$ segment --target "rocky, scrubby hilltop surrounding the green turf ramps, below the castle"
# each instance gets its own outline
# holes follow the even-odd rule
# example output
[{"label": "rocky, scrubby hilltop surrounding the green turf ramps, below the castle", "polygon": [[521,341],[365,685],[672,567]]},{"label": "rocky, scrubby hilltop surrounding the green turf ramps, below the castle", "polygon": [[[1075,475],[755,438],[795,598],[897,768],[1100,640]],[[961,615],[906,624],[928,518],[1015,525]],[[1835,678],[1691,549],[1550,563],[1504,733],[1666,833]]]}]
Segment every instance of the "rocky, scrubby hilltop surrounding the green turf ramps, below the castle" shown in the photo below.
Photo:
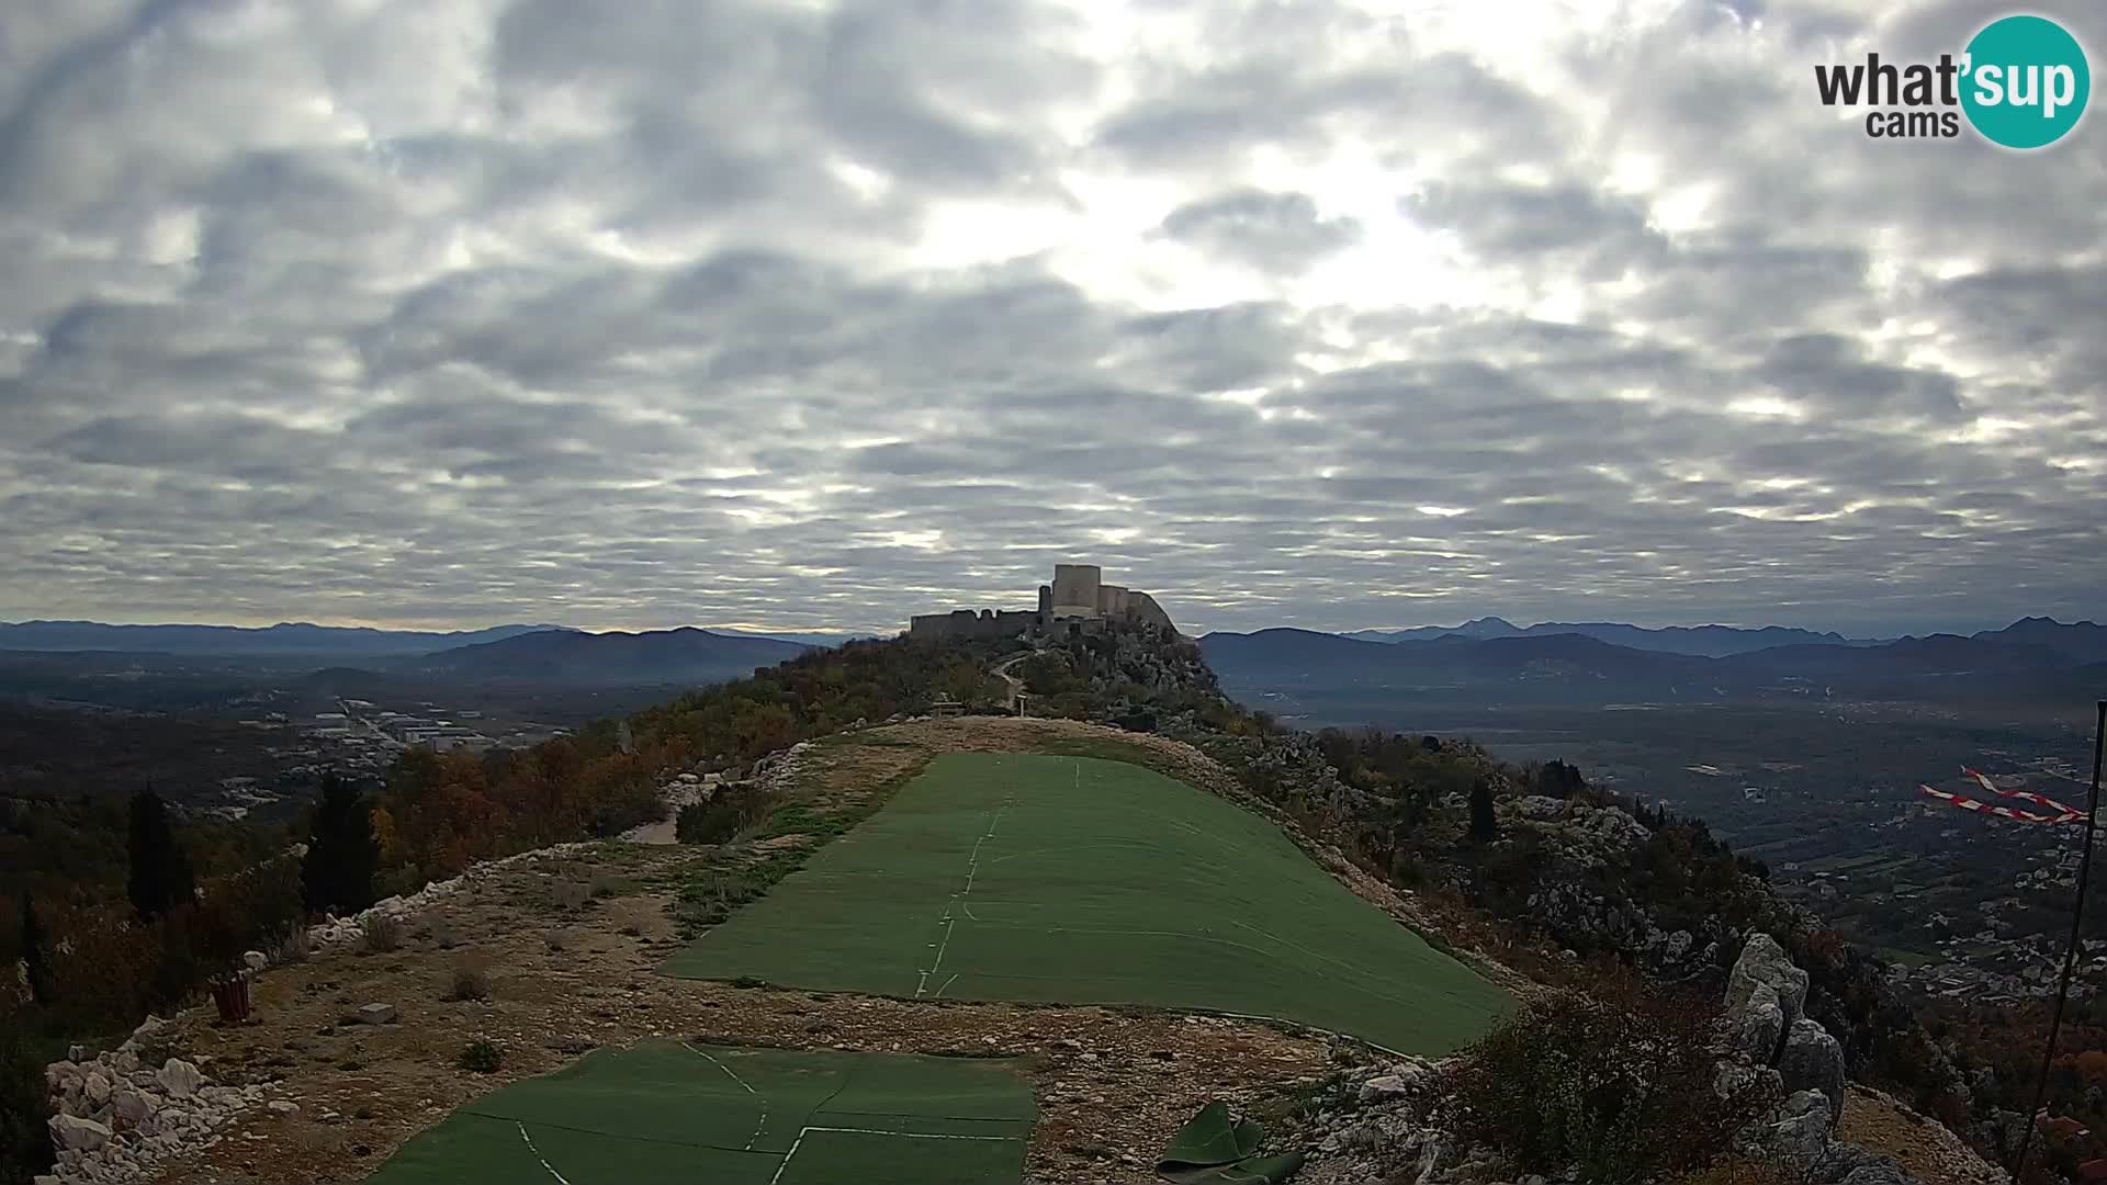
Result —
[{"label": "rocky, scrubby hilltop surrounding the green turf ramps, below the castle", "polygon": [[[1072,719],[992,715],[1016,711],[1011,683],[1030,711]],[[990,715],[914,711],[952,696]],[[1159,628],[851,645],[638,713],[619,746],[670,808],[737,797],[729,831],[483,860],[257,953],[255,1027],[190,1010],[46,1071],[55,1181],[348,1181],[497,1082],[683,1033],[1043,1058],[1028,1168],[1062,1183],[1150,1181],[1153,1153],[1209,1099],[1268,1115],[1315,1183],[1698,1181],[1707,1166],[1804,1185],[1997,1179],[1865,1084],[1909,1101],[1968,1090],[1879,966],[1702,822],[1466,740],[1275,727]],[[818,1002],[649,974],[961,749],[1117,755],[1228,797],[1525,1008],[1426,1063],[1233,1018]],[[501,1069],[434,1056],[464,1031],[491,1033]]]}]

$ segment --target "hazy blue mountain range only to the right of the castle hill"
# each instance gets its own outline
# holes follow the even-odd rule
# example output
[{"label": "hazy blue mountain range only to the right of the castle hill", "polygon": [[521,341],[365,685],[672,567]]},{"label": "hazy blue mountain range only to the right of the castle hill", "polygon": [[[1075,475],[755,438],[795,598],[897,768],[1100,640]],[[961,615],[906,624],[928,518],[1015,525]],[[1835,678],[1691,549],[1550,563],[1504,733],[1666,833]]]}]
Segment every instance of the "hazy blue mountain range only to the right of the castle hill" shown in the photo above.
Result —
[{"label": "hazy blue mountain range only to the right of the castle hill", "polygon": [[[1500,622],[1507,624],[1507,622]],[[1445,698],[1475,702],[1694,702],[1747,698],[1892,698],[2010,700],[2092,698],[2107,692],[2107,628],[2027,618],[1974,637],[1932,635],[1894,641],[1795,641],[1732,654],[1688,654],[1673,645],[1724,645],[1747,635],[1806,630],[1637,630],[1612,637],[1549,626],[1485,637],[1460,630],[1399,641],[1313,630],[1212,633],[1201,639],[1222,681],[1243,692]],[[1618,633],[1631,630],[1631,633]],[[1724,633],[1707,633],[1724,630]],[[1742,635],[1742,637],[1728,637]]]}]

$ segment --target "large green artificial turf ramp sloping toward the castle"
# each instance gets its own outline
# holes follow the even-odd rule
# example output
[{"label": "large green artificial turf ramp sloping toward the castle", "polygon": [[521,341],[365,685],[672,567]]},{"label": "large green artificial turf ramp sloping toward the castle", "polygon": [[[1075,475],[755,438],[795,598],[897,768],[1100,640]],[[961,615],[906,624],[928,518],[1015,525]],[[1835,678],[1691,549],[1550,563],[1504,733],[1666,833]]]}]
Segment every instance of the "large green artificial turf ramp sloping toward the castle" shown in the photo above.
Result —
[{"label": "large green artificial turf ramp sloping toward the castle", "polygon": [[1277,827],[1123,761],[946,753],[666,974],[1298,1021],[1414,1054],[1511,999]]}]

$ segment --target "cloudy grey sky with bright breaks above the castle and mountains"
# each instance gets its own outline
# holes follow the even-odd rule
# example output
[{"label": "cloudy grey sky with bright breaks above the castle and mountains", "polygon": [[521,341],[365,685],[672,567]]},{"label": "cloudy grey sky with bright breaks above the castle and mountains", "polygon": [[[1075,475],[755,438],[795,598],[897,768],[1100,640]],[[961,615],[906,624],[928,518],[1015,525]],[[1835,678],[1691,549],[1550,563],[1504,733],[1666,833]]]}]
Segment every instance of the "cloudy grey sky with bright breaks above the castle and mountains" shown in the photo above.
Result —
[{"label": "cloudy grey sky with bright breaks above the castle and mountains", "polygon": [[2004,11],[8,0],[0,618],[2103,616],[2103,116],[1814,93]]}]

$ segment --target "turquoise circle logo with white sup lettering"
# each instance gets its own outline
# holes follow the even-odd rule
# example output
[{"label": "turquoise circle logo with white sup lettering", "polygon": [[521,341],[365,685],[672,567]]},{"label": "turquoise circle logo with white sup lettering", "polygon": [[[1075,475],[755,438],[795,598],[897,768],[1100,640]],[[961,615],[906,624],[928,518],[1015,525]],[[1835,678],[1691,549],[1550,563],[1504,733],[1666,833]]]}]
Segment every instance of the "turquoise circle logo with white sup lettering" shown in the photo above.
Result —
[{"label": "turquoise circle logo with white sup lettering", "polygon": [[2092,97],[2084,46],[2046,17],[1983,25],[1962,61],[1968,122],[2006,148],[2046,148],[2063,139]]}]

